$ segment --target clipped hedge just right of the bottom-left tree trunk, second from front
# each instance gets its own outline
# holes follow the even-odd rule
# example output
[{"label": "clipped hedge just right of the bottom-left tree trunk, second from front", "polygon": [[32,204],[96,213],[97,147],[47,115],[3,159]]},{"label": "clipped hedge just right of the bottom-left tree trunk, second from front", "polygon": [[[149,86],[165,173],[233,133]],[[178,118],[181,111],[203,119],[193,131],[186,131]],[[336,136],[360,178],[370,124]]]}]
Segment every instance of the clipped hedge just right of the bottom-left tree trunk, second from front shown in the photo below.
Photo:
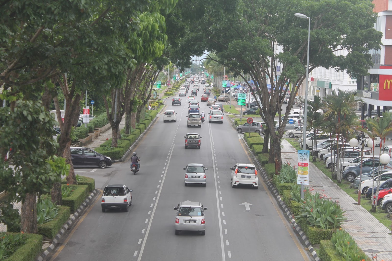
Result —
[{"label": "clipped hedge just right of the bottom-left tree trunk, second from front", "polygon": [[38,234],[53,239],[65,222],[69,219],[70,207],[58,206],[57,216],[44,224],[37,224]]}]

